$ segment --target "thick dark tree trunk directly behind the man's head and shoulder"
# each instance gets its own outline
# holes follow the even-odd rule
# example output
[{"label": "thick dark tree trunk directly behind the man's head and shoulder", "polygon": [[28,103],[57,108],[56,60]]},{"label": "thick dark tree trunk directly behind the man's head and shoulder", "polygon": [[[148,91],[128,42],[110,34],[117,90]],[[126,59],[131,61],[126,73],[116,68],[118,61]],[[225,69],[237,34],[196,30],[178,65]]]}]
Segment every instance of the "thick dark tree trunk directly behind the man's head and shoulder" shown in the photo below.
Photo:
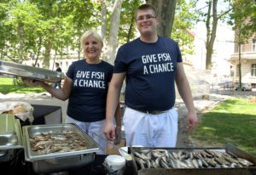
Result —
[{"label": "thick dark tree trunk directly behind the man's head and shoulder", "polygon": [[171,37],[177,0],[146,0],[146,2],[154,6],[156,15],[160,19],[160,24],[157,28],[158,35]]}]

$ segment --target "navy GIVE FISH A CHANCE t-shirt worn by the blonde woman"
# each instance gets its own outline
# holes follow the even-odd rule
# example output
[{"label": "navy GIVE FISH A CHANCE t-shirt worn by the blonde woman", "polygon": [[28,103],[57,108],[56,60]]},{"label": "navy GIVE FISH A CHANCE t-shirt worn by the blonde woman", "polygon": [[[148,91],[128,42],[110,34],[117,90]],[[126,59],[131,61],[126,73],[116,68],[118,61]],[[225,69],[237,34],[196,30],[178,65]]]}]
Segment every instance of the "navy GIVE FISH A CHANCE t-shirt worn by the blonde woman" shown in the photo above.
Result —
[{"label": "navy GIVE FISH A CHANCE t-shirt worn by the blonde woman", "polygon": [[87,64],[85,59],[73,62],[67,71],[67,76],[73,80],[67,116],[84,122],[105,119],[108,82],[112,74],[113,65],[103,60],[99,64]]}]

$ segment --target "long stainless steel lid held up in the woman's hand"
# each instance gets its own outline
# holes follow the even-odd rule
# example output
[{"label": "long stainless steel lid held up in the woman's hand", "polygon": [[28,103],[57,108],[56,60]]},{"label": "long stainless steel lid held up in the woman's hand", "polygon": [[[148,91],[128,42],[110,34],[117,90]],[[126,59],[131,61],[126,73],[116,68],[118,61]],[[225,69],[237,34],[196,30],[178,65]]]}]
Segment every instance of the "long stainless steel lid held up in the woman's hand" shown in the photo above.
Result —
[{"label": "long stainless steel lid held up in the woman's hand", "polygon": [[28,77],[44,82],[58,82],[65,76],[59,71],[50,71],[30,65],[21,65],[8,61],[0,61],[0,73],[13,76]]}]

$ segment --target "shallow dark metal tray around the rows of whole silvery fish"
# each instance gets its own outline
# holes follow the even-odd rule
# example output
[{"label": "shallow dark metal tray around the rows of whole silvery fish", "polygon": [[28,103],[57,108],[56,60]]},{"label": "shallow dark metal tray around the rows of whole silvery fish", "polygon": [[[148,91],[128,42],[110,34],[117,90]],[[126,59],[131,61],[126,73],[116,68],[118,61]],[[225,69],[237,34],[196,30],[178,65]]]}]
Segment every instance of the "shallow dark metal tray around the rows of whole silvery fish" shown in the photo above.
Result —
[{"label": "shallow dark metal tray around the rows of whole silvery fish", "polygon": [[[253,162],[251,167],[191,167],[191,168],[172,168],[172,167],[157,167],[157,168],[141,168],[138,165],[137,153],[146,153],[147,150],[167,150],[168,152],[178,152],[184,150],[192,152],[194,150],[216,150],[230,155],[236,155],[237,157],[246,159],[247,161]],[[136,153],[137,152],[137,153]],[[256,158],[253,155],[247,154],[245,151],[236,148],[233,144],[227,144],[225,148],[148,148],[148,147],[131,147],[132,165],[134,174],[138,175],[252,175],[256,174]],[[154,159],[153,159],[154,160]],[[152,162],[152,161],[151,161]],[[151,164],[152,165],[152,164]]]}]

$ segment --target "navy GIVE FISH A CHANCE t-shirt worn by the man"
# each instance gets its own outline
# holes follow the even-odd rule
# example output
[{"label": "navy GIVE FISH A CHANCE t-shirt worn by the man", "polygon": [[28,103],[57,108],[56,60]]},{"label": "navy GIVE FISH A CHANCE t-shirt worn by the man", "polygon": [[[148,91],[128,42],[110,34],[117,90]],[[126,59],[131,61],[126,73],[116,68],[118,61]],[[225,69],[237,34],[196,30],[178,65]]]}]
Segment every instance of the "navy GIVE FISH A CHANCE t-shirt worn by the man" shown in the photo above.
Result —
[{"label": "navy GIVE FISH A CHANCE t-shirt worn by the man", "polygon": [[175,74],[182,56],[177,42],[140,38],[119,48],[113,73],[126,72],[125,104],[134,110],[169,110],[175,103]]}]

